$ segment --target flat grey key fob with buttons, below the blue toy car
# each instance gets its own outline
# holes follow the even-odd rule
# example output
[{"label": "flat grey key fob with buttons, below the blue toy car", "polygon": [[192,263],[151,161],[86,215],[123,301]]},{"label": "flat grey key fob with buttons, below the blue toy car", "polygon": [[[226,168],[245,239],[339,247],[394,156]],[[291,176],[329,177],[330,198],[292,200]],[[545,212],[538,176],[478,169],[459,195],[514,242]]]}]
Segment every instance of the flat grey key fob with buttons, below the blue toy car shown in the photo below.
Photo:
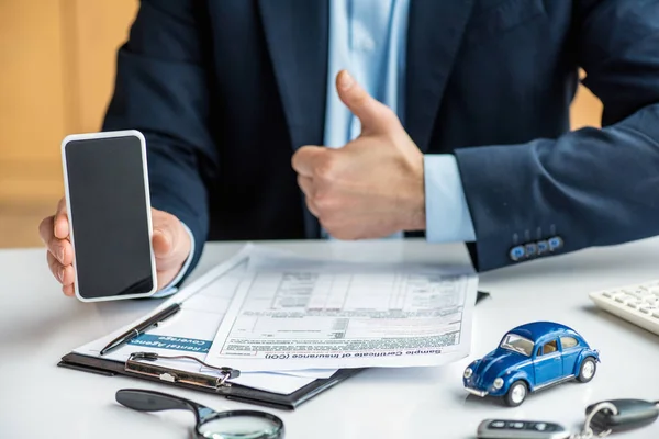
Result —
[{"label": "flat grey key fob with buttons, below the blue toy car", "polygon": [[478,426],[478,439],[567,439],[561,425],[540,420],[485,419]]}]

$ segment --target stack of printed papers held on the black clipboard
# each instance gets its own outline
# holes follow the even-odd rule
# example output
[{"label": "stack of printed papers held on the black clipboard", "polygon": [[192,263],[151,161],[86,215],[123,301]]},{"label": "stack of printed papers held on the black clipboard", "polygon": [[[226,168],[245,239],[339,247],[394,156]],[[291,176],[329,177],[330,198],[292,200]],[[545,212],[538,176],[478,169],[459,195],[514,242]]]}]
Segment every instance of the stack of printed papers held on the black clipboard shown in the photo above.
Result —
[{"label": "stack of printed papers held on the black clipboard", "polygon": [[[476,289],[470,267],[313,260],[247,245],[152,313],[179,302],[178,314],[103,358],[190,356],[238,369],[233,383],[290,394],[339,368],[463,358]],[[110,340],[146,317],[74,351],[100,357]],[[190,360],[158,364],[217,373]]]}]

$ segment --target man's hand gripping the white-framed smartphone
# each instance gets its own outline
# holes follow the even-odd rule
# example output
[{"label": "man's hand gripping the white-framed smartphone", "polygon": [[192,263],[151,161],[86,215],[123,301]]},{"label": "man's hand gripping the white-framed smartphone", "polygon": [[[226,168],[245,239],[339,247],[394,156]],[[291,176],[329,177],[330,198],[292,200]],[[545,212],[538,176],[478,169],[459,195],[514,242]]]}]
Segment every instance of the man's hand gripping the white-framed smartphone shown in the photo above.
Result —
[{"label": "man's hand gripping the white-framed smartphone", "polygon": [[[190,235],[176,216],[153,207],[150,212],[152,245],[156,258],[158,290],[160,290],[171,282],[181,270],[190,255],[191,241]],[[59,200],[55,215],[42,221],[38,232],[47,247],[46,258],[51,272],[62,283],[64,294],[74,296],[76,279],[72,266],[74,247],[70,243],[69,222],[64,198]],[[99,248],[98,251],[101,252],[103,249]]]}]

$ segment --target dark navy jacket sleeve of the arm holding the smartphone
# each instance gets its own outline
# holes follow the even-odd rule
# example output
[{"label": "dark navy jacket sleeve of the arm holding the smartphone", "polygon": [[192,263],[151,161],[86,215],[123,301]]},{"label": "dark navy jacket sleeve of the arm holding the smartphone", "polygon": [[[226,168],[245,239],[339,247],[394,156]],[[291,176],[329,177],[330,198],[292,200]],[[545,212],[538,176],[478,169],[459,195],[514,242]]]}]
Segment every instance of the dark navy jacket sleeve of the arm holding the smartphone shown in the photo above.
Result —
[{"label": "dark navy jacket sleeve of the arm holding the smartphone", "polygon": [[[147,143],[150,201],[192,232],[201,256],[209,230],[202,175],[217,168],[209,132],[205,23],[198,4],[143,0],[130,38],[118,54],[115,90],[103,130],[139,130]],[[182,281],[182,279],[181,279]]]}]

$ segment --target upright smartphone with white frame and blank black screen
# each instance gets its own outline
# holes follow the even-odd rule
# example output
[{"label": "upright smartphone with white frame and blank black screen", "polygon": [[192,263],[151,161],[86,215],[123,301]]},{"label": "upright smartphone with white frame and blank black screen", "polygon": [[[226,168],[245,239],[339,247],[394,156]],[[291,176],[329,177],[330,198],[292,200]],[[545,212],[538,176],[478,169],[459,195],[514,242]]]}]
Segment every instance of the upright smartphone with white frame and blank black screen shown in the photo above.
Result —
[{"label": "upright smartphone with white frame and blank black screen", "polygon": [[62,161],[76,296],[98,302],[153,295],[158,285],[142,133],[69,135]]}]

